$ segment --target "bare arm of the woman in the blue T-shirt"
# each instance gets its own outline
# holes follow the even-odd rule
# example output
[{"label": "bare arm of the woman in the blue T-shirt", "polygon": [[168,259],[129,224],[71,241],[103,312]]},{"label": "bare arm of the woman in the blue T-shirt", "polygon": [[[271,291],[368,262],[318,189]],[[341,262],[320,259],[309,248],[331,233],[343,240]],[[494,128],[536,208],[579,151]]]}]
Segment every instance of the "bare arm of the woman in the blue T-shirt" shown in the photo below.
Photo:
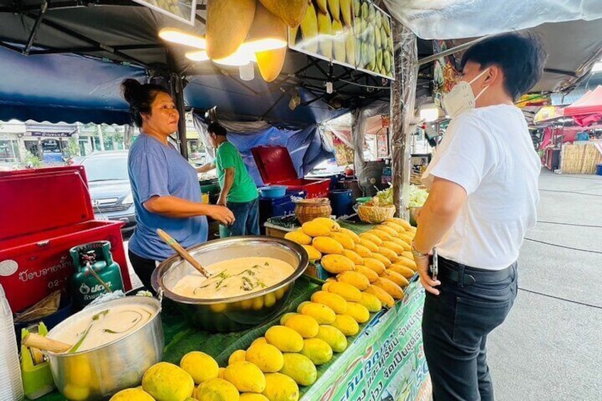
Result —
[{"label": "bare arm of the woman in the blue T-shirt", "polygon": [[178,197],[151,197],[151,199],[144,202],[143,206],[148,212],[172,217],[174,219],[208,216],[222,224],[229,225],[234,223],[234,214],[227,207],[190,202]]}]

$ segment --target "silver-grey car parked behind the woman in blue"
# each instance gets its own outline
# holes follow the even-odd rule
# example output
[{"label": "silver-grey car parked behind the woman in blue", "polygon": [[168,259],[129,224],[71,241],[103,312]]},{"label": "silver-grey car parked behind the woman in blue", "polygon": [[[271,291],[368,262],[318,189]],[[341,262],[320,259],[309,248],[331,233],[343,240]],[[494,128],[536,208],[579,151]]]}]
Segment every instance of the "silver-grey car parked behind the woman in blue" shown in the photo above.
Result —
[{"label": "silver-grey car parked behind the woman in blue", "polygon": [[123,231],[131,231],[136,226],[136,212],[128,177],[128,151],[92,153],[78,164],[86,168],[94,217],[123,221]]}]

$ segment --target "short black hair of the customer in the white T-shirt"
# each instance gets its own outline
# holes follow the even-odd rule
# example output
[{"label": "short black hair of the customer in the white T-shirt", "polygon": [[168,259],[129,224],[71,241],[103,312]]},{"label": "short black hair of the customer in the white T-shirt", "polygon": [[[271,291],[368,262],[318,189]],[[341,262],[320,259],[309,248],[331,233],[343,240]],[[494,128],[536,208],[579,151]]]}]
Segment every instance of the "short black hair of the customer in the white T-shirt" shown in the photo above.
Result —
[{"label": "short black hair of the customer in the white T-shirt", "polygon": [[514,101],[540,81],[547,54],[535,33],[503,33],[476,43],[462,56],[466,62],[477,62],[481,70],[497,65],[504,73],[504,88]]}]

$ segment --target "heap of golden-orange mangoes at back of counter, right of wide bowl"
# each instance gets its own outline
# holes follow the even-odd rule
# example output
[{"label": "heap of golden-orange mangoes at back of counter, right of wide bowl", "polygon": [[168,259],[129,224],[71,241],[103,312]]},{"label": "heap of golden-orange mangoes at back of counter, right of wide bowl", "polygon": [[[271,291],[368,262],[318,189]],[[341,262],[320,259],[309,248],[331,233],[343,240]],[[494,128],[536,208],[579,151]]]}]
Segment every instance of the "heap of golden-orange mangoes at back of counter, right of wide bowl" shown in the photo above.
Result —
[{"label": "heap of golden-orange mangoes at back of counter, right of wide bowl", "polygon": [[403,219],[392,218],[362,234],[319,217],[307,221],[285,238],[300,243],[310,260],[332,273],[334,282],[345,282],[358,290],[376,295],[385,307],[403,298],[403,287],[416,273],[410,252],[416,228]]}]

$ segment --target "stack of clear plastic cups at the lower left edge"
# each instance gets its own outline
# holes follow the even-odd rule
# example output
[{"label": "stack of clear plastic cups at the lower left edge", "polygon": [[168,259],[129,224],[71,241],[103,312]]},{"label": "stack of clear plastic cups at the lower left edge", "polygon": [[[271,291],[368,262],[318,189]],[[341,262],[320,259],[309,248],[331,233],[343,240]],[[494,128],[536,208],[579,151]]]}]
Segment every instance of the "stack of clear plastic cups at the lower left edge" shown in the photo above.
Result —
[{"label": "stack of clear plastic cups at the lower left edge", "polygon": [[0,400],[23,400],[21,363],[18,358],[13,312],[0,285]]}]

